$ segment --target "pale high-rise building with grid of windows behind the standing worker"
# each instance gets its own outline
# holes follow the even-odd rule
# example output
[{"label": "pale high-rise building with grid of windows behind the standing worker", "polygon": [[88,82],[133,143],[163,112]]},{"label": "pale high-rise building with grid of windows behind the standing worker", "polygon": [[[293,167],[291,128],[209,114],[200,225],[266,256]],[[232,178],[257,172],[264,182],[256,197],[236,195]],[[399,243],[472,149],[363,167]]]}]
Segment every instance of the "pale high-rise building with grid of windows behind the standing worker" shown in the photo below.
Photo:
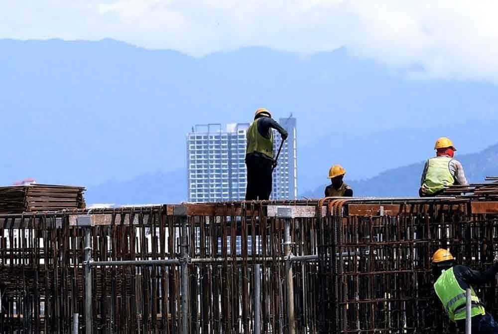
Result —
[{"label": "pale high-rise building with grid of windows behind the standing worker", "polygon": [[[271,199],[297,198],[296,119],[279,120],[289,137],[273,172]],[[187,183],[190,202],[244,200],[246,196],[246,132],[249,123],[196,125],[187,134]],[[274,151],[280,146],[275,133]]]}]

